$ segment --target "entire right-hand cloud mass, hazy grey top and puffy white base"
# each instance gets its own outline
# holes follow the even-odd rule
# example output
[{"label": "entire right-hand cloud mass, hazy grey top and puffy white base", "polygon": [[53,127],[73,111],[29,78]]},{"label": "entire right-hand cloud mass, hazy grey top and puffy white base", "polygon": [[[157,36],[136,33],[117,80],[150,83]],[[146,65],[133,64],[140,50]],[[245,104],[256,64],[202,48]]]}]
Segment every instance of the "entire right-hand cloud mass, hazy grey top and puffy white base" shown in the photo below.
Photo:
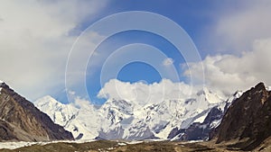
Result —
[{"label": "entire right-hand cloud mass, hazy grey top and puffy white base", "polygon": [[[223,5],[202,40],[214,46],[212,55],[202,60],[205,84],[226,94],[247,90],[260,81],[271,85],[271,1],[248,0],[237,5],[238,9],[230,7],[230,11]],[[201,64],[195,63],[184,74],[200,80],[202,72]]]}]

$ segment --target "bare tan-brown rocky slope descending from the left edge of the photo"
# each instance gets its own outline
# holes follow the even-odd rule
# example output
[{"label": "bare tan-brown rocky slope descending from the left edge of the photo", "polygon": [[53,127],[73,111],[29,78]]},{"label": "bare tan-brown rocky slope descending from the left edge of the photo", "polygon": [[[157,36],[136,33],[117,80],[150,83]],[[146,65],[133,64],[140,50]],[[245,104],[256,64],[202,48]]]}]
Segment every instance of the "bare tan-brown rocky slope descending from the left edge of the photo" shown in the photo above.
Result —
[{"label": "bare tan-brown rocky slope descending from the left edge of the photo", "polygon": [[33,103],[14,93],[5,83],[0,84],[0,141],[46,141],[73,139],[69,131],[54,124]]}]

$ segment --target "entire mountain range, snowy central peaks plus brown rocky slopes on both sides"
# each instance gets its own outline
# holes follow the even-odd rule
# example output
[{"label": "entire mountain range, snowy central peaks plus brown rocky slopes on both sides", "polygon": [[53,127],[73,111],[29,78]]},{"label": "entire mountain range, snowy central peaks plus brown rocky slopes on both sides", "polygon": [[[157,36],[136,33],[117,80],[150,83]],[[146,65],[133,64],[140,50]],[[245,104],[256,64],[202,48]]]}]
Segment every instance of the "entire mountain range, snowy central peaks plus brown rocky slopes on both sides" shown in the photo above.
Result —
[{"label": "entire mountain range, snowy central peaks plus brown rocky slopes on both sides", "polygon": [[108,99],[97,106],[49,95],[31,103],[0,83],[0,141],[58,139],[210,140],[260,151],[271,143],[271,89],[259,83],[225,99],[203,88],[187,99],[145,105]]}]

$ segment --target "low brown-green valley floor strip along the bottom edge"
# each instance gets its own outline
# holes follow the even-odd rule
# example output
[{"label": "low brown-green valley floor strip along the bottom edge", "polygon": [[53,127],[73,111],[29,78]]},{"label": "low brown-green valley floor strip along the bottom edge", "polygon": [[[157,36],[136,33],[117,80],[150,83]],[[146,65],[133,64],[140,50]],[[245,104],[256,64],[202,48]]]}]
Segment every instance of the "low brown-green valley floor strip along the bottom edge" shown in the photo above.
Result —
[{"label": "low brown-green valley floor strip along the bottom edge", "polygon": [[[257,148],[256,151],[269,151],[270,148]],[[144,142],[120,142],[99,140],[86,143],[74,142],[57,142],[50,144],[35,144],[23,148],[16,149],[0,149],[0,152],[228,152],[240,151],[238,149],[229,149],[225,145],[216,145],[212,141],[209,142],[173,142],[173,141],[144,141]]]}]

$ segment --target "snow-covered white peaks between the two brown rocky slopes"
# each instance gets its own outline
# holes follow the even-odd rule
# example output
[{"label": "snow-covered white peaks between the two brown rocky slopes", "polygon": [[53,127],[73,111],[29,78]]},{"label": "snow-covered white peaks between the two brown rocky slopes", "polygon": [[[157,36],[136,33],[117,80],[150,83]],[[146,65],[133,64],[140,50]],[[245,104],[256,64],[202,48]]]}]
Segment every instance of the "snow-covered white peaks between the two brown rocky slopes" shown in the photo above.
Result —
[{"label": "snow-covered white peaks between the two brown rocky slopes", "polygon": [[72,132],[76,139],[137,140],[173,138],[177,136],[173,136],[173,130],[185,130],[195,122],[202,123],[213,107],[223,109],[235,98],[224,100],[207,88],[192,96],[144,106],[115,99],[108,99],[99,108],[86,102],[77,106],[76,103],[62,104],[50,96],[34,104],[52,121]]}]

